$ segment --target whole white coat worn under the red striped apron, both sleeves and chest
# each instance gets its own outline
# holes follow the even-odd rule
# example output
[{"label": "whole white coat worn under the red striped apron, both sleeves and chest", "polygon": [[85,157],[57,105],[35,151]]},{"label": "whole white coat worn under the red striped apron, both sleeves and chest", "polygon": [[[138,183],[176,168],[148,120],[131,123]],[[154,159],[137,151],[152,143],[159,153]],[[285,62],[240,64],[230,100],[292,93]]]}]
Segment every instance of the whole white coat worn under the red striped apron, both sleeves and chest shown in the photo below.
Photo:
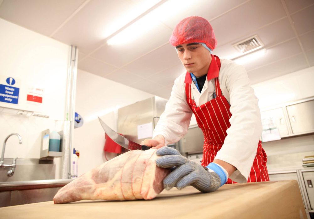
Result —
[{"label": "whole white coat worn under the red striped apron, both sleeves and chest", "polygon": [[[258,99],[249,86],[249,79],[243,66],[227,59],[220,59],[219,84],[222,94],[230,103],[230,128],[224,145],[215,159],[223,160],[237,168],[229,178],[236,182],[246,182],[257,151],[257,144],[262,134],[262,122]],[[165,144],[180,140],[190,124],[192,111],[185,93],[186,72],[181,74],[173,85],[171,97],[160,116],[154,133],[165,137]],[[213,99],[214,79],[205,82],[201,93],[195,84],[191,84],[192,94],[197,106]]]}]

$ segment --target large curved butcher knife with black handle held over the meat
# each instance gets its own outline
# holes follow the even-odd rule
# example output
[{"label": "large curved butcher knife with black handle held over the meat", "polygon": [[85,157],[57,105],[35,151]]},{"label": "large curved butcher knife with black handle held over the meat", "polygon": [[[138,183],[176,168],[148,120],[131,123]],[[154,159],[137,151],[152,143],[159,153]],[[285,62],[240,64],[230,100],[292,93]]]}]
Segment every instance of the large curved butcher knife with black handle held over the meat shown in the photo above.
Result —
[{"label": "large curved butcher knife with black handle held over the meat", "polygon": [[146,145],[139,145],[138,143],[135,143],[131,140],[128,140],[123,135],[112,130],[108,125],[106,125],[106,123],[104,123],[103,120],[101,120],[99,118],[99,116],[98,116],[98,119],[100,121],[100,125],[102,126],[102,128],[104,129],[106,134],[109,136],[109,138],[111,138],[111,140],[116,142],[118,145],[121,145],[122,147],[124,147],[128,150],[148,150],[148,149],[150,149],[150,147],[148,147]]}]

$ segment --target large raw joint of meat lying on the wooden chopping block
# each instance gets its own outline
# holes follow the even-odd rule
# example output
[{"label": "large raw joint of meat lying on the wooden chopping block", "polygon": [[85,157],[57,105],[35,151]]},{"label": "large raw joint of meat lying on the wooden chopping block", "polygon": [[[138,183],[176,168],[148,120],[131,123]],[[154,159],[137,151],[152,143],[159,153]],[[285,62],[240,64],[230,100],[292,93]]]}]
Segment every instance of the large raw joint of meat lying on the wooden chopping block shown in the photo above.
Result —
[{"label": "large raw joint of meat lying on the wooden chopping block", "polygon": [[130,150],[103,163],[62,187],[54,203],[153,199],[164,189],[162,181],[170,172],[156,166],[156,150]]}]

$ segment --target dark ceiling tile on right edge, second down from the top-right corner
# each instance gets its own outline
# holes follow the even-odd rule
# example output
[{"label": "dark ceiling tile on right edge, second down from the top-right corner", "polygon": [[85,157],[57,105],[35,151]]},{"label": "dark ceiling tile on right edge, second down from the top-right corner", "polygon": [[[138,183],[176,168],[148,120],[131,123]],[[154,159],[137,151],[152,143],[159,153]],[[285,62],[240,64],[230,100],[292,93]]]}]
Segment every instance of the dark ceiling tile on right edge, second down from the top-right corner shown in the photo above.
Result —
[{"label": "dark ceiling tile on right edge, second down from the top-right corner", "polygon": [[298,35],[314,29],[314,4],[291,16]]}]

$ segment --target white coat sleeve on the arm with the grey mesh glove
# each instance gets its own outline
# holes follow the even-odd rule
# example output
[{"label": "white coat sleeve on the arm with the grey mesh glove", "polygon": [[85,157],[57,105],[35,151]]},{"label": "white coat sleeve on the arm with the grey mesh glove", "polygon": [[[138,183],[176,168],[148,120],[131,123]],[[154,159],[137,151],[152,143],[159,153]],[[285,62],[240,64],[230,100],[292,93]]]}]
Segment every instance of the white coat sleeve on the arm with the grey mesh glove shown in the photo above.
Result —
[{"label": "white coat sleeve on the arm with the grey mesh glove", "polygon": [[229,178],[243,183],[247,182],[262,134],[261,113],[244,67],[228,65],[229,73],[219,83],[225,84],[230,94],[231,126],[215,159],[235,166],[237,170]]}]

